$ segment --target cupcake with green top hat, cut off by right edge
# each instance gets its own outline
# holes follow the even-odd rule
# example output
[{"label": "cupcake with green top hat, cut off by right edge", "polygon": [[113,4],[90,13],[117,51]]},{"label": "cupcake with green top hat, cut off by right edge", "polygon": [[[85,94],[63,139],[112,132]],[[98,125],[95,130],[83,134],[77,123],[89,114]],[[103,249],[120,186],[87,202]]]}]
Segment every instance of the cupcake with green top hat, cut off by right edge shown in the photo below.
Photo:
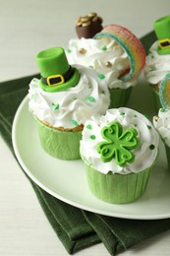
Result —
[{"label": "cupcake with green top hat, cut off by right edge", "polygon": [[161,107],[160,85],[165,76],[170,73],[170,16],[154,22],[154,32],[157,36],[146,56],[144,75],[152,89],[156,111]]}]

